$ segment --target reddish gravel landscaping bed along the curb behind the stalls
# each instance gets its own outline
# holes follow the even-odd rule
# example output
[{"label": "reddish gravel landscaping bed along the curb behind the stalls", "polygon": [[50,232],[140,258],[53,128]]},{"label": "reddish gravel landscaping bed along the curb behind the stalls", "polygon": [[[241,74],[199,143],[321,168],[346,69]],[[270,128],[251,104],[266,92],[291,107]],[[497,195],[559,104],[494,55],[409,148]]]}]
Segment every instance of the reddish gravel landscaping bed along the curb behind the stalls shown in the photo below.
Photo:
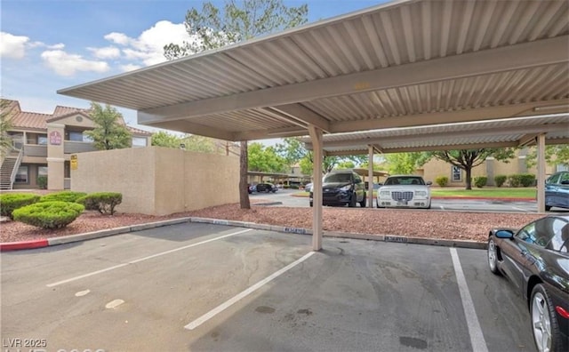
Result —
[{"label": "reddish gravel landscaping bed along the curb behind the stalls", "polygon": [[[118,228],[182,217],[240,220],[292,228],[312,228],[312,211],[308,208],[259,206],[244,210],[239,204],[226,204],[194,212],[167,216],[117,213],[113,216],[85,212],[66,228],[44,230],[16,221],[2,222],[0,242],[30,241],[68,236],[100,229]],[[410,211],[393,209],[323,209],[325,231],[367,235],[413,236],[422,238],[485,242],[490,228],[517,228],[539,219],[537,213]]]}]

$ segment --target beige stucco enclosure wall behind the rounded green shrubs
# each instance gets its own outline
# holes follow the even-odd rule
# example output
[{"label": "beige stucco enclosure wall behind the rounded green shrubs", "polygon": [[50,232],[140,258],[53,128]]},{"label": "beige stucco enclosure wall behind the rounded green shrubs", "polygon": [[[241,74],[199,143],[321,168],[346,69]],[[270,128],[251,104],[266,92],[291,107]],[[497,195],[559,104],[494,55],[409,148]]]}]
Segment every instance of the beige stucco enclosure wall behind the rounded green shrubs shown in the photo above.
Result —
[{"label": "beige stucco enclosure wall behind the rounded green shrubs", "polygon": [[165,215],[239,201],[239,159],[173,148],[77,154],[71,189],[120,192],[118,212]]}]

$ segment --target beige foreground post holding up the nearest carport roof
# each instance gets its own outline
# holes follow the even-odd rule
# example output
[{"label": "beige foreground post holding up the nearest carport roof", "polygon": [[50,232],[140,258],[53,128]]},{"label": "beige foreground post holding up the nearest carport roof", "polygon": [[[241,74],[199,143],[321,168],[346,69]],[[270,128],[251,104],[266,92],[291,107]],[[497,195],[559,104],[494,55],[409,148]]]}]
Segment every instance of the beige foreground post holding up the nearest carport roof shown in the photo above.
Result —
[{"label": "beige foreground post holding up the nearest carport roof", "polygon": [[312,140],[312,250],[322,249],[322,130],[309,124]]}]

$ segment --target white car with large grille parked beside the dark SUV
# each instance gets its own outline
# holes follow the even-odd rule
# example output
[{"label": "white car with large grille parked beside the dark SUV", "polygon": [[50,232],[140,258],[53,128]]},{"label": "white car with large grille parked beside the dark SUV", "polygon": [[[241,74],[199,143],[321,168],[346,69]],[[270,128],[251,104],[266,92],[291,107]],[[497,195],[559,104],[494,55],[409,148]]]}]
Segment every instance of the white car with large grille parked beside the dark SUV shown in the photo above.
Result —
[{"label": "white car with large grille parked beside the dark SUV", "polygon": [[430,188],[421,176],[389,176],[377,192],[377,207],[430,209]]}]

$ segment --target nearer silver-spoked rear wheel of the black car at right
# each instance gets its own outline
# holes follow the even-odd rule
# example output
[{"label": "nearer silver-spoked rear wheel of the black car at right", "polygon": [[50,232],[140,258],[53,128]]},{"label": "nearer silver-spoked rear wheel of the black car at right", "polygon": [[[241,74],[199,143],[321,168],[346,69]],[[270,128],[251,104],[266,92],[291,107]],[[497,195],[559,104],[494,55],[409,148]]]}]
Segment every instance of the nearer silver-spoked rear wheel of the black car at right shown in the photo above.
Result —
[{"label": "nearer silver-spoked rear wheel of the black car at right", "polygon": [[532,317],[533,341],[537,350],[540,352],[559,350],[561,336],[555,308],[542,284],[536,284],[533,287],[530,316]]}]

